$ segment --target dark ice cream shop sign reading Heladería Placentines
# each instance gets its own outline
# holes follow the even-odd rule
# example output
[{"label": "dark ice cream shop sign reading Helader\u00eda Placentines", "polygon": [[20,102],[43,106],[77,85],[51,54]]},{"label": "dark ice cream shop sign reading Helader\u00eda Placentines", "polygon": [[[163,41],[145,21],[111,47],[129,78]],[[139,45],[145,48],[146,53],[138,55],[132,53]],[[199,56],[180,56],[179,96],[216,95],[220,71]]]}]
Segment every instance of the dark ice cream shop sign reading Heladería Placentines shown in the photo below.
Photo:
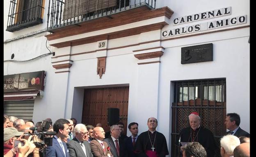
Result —
[{"label": "dark ice cream shop sign reading Helader\u00eda Placentines", "polygon": [[4,76],[4,92],[43,90],[45,71]]}]

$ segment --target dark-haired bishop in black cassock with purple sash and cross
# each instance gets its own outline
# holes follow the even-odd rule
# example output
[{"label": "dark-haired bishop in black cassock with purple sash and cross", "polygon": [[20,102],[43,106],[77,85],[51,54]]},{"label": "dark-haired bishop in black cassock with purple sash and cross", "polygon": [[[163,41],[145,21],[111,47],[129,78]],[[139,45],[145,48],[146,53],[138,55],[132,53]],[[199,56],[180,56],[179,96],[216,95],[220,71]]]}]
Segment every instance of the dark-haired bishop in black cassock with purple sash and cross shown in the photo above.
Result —
[{"label": "dark-haired bishop in black cassock with purple sash and cross", "polygon": [[165,157],[169,155],[165,136],[156,131],[157,120],[148,119],[149,130],[142,132],[135,145],[135,153],[138,157]]}]

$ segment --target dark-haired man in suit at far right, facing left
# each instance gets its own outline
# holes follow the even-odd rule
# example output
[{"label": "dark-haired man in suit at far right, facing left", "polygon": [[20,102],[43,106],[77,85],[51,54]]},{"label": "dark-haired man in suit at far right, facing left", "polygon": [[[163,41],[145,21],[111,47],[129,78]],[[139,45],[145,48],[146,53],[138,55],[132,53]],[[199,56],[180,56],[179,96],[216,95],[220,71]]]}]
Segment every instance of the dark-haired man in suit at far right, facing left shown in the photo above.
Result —
[{"label": "dark-haired man in suit at far right, facing left", "polygon": [[240,116],[237,113],[228,113],[225,119],[226,128],[229,129],[225,135],[231,134],[235,135],[236,137],[250,137],[250,134],[245,130],[242,130],[240,125]]}]

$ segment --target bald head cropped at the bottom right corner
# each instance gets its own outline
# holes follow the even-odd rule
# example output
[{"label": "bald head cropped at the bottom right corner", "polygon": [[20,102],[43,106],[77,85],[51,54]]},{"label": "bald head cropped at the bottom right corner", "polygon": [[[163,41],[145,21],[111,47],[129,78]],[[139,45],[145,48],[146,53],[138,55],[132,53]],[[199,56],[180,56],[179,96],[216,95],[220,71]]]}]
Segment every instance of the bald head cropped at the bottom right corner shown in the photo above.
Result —
[{"label": "bald head cropped at the bottom right corner", "polygon": [[235,147],[234,157],[250,157],[250,143],[242,143]]}]

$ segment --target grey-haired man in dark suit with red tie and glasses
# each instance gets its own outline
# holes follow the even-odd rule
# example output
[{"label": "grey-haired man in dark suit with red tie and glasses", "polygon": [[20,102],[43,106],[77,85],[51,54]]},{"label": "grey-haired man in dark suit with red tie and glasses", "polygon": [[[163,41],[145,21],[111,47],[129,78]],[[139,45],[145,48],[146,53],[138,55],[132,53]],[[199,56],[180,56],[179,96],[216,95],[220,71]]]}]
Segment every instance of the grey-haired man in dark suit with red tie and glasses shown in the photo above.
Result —
[{"label": "grey-haired man in dark suit with red tie and glasses", "polygon": [[107,145],[110,147],[110,151],[114,157],[124,157],[124,145],[123,140],[119,137],[121,136],[121,128],[118,125],[113,125],[110,127],[110,137],[104,139]]}]

